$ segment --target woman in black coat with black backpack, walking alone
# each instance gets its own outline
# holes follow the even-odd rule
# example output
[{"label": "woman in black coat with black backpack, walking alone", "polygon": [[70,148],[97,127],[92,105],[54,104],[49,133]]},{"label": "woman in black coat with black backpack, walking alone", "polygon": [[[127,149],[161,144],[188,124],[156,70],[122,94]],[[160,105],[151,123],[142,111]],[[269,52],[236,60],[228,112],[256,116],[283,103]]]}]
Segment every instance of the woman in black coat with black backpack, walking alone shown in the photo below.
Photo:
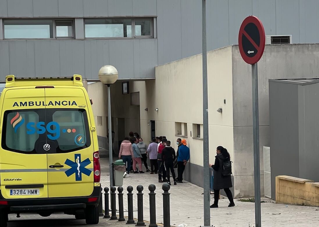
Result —
[{"label": "woman in black coat with black backpack, walking alone", "polygon": [[224,189],[228,199],[229,205],[228,207],[234,207],[234,199],[232,192],[229,188],[233,187],[231,176],[223,176],[222,175],[222,168],[224,160],[228,159],[230,161],[230,155],[226,148],[222,146],[217,147],[216,149],[217,155],[215,156],[215,164],[209,164],[214,171],[214,204],[211,205],[211,208],[218,208],[218,200],[219,200],[219,191],[220,189]]}]

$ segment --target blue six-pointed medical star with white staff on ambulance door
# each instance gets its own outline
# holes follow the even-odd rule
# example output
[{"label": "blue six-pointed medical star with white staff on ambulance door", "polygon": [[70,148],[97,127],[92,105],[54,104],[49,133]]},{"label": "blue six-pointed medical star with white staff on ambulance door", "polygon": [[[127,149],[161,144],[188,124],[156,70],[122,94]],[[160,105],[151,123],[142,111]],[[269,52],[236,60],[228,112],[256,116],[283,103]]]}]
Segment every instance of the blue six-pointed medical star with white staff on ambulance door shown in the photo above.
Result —
[{"label": "blue six-pointed medical star with white staff on ambulance door", "polygon": [[65,171],[67,177],[70,177],[72,174],[75,174],[75,180],[81,181],[82,180],[82,173],[86,176],[91,175],[91,170],[85,168],[88,164],[91,163],[90,159],[85,159],[81,162],[81,154],[74,155],[75,162],[72,162],[70,159],[67,159],[64,164],[67,164],[71,168]]}]

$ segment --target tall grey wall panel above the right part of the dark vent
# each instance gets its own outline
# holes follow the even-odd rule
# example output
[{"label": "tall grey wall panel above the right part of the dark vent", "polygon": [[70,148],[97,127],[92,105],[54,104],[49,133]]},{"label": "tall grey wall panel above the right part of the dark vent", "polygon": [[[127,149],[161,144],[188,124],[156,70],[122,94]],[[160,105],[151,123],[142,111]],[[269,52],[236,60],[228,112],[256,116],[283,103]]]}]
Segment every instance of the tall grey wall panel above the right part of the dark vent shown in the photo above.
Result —
[{"label": "tall grey wall panel above the right part of the dark vent", "polygon": [[276,1],[276,33],[292,35],[293,42],[299,43],[299,0]]}]

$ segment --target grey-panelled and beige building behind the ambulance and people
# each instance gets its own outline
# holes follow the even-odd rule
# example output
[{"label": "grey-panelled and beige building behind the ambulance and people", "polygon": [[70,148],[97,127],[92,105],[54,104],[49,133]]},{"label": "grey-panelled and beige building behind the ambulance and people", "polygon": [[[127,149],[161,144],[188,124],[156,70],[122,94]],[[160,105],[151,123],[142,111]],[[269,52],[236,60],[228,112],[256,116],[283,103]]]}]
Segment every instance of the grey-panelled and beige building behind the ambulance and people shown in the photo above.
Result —
[{"label": "grey-panelled and beige building behind the ambulance and people", "polygon": [[[270,43],[317,43],[319,2],[206,2],[210,162],[217,146],[228,148],[234,195],[252,196],[251,72],[234,46],[239,27],[256,15]],[[186,138],[191,158],[185,179],[203,185],[201,1],[0,0],[0,24],[0,80],[8,74],[81,74],[96,81],[101,66],[114,65],[119,72],[111,86],[115,153],[130,131],[146,142],[160,135]],[[262,147],[270,146],[268,79],[315,78],[318,53],[314,44],[267,45],[258,64],[262,194]],[[99,145],[108,148],[106,87],[95,82],[87,90]]]}]

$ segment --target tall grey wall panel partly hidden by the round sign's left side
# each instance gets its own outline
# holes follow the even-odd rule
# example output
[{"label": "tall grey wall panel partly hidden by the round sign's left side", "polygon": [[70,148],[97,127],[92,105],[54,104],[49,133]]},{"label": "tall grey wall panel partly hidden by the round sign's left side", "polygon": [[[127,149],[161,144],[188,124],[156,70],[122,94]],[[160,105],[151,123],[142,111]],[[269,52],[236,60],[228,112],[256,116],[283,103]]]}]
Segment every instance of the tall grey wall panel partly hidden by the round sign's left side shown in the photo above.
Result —
[{"label": "tall grey wall panel partly hidden by the round sign's left side", "polygon": [[229,0],[229,42],[238,44],[238,32],[241,22],[252,15],[251,0]]}]

